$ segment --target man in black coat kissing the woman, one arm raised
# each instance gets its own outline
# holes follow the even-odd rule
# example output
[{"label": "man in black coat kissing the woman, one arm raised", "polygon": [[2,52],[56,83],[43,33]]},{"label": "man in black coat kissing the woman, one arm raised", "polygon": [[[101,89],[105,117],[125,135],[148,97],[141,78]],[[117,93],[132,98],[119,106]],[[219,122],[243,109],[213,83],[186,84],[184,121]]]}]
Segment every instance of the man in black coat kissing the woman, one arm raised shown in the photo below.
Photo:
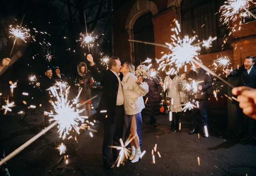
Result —
[{"label": "man in black coat kissing the woman, one arm raised", "polygon": [[[119,73],[121,62],[118,57],[113,56],[108,61],[109,69],[98,72],[91,54],[87,55],[87,59],[90,62],[93,78],[104,85],[97,110],[97,120],[104,122],[102,146],[104,166],[106,169],[112,169],[109,146],[112,141],[114,145],[119,145],[119,139],[122,138],[124,129],[124,92],[121,84],[123,75]],[[113,158],[116,159],[118,157],[117,150],[113,148],[112,153]]]}]

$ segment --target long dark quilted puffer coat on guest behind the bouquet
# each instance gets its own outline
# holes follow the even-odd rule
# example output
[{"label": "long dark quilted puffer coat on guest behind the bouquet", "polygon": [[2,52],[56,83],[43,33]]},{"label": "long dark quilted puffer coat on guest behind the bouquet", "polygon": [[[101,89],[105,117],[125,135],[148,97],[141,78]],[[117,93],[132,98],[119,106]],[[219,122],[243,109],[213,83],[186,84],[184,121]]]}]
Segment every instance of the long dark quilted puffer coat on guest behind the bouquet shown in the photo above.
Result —
[{"label": "long dark quilted puffer coat on guest behind the bouquet", "polygon": [[156,116],[160,113],[160,102],[161,96],[158,89],[160,84],[159,78],[150,78],[144,80],[148,83],[148,93],[144,96],[144,102],[148,98],[147,103],[145,104],[144,113],[145,115],[149,115],[150,117]]}]

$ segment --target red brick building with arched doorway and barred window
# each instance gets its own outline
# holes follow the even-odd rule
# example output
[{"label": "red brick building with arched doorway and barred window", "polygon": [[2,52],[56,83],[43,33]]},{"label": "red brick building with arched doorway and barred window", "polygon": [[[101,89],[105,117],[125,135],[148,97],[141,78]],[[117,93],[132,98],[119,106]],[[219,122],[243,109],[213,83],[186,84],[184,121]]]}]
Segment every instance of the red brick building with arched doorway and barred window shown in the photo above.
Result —
[{"label": "red brick building with arched doorway and barred window", "polygon": [[[224,0],[113,0],[115,55],[122,63],[128,61],[133,64],[139,64],[147,57],[161,58],[168,53],[168,48],[129,42],[128,39],[170,43],[174,20],[178,20],[182,36],[198,35],[200,41],[209,36],[218,37],[210,51],[202,48],[200,52],[199,58],[206,66],[212,65],[213,60],[222,55],[228,56],[232,67],[237,68],[246,56],[256,55],[256,21],[239,25],[241,18],[238,18],[230,25],[236,32],[230,34],[231,28],[219,21],[218,11],[223,4]],[[222,70],[218,72],[226,76]],[[224,89],[222,94],[228,90]],[[227,111],[228,102],[220,97],[219,102],[211,101],[209,108]],[[210,98],[214,99],[211,95]]]}]

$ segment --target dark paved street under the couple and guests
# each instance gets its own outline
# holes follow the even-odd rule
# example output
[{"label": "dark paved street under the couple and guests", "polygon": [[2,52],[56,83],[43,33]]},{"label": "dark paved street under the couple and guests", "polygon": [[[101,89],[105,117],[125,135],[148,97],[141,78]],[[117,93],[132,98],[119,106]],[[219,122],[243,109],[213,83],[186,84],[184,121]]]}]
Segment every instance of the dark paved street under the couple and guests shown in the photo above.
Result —
[{"label": "dark paved street under the couple and guests", "polygon": [[[92,101],[98,106],[99,97]],[[26,115],[18,114],[20,110]],[[0,130],[4,138],[4,148],[8,155],[24,142],[40,132],[44,124],[44,108],[26,109],[17,106],[12,113],[0,118]],[[1,112],[2,113],[2,112]],[[95,110],[92,110],[95,113]],[[96,122],[89,130],[81,131],[77,141],[58,138],[57,129],[48,132],[7,162],[11,176],[252,176],[256,175],[256,147],[240,144],[240,139],[232,138],[227,132],[227,117],[223,114],[209,113],[209,137],[200,134],[189,135],[191,128],[190,113],[181,118],[181,130],[170,131],[168,116],[158,116],[157,128],[147,126],[147,116],[143,116],[142,151],[146,154],[138,163],[125,162],[124,166],[113,170],[102,168],[103,124]],[[66,153],[60,155],[56,147],[64,142]],[[152,162],[151,151],[157,144],[156,163]],[[64,160],[68,155],[68,164]],[[198,166],[198,157],[200,166]]]}]

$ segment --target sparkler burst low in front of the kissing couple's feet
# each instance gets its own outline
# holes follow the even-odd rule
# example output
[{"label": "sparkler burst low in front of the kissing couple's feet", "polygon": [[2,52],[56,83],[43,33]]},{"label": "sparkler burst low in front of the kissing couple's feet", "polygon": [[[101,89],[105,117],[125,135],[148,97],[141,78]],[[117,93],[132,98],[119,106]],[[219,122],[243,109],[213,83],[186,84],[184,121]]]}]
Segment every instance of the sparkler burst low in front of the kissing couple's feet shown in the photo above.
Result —
[{"label": "sparkler burst low in front of the kissing couple's feet", "polygon": [[116,148],[116,150],[120,150],[118,158],[116,159],[116,162],[113,164],[112,167],[114,167],[116,165],[116,163],[117,163],[116,167],[119,167],[120,164],[123,164],[123,162],[125,160],[128,160],[128,157],[130,157],[130,152],[131,151],[128,150],[126,148],[126,146],[128,146],[128,144],[130,144],[130,142],[136,137],[136,135],[133,136],[132,138],[131,138],[131,136],[132,135],[130,134],[130,136],[128,137],[128,139],[126,140],[125,143],[120,138],[119,141],[120,141],[121,146],[109,146],[110,148]]}]

